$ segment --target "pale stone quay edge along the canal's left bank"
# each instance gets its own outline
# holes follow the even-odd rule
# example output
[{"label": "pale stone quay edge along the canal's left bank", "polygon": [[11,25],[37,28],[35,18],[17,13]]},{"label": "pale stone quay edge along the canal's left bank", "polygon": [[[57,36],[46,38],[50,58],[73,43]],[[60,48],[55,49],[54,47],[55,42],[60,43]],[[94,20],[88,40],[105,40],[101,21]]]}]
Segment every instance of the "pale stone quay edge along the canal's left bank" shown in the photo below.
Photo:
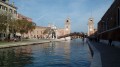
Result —
[{"label": "pale stone quay edge along the canal's left bank", "polygon": [[61,41],[61,40],[29,39],[19,42],[0,42],[0,48],[34,45],[34,44],[48,43],[51,41]]}]

